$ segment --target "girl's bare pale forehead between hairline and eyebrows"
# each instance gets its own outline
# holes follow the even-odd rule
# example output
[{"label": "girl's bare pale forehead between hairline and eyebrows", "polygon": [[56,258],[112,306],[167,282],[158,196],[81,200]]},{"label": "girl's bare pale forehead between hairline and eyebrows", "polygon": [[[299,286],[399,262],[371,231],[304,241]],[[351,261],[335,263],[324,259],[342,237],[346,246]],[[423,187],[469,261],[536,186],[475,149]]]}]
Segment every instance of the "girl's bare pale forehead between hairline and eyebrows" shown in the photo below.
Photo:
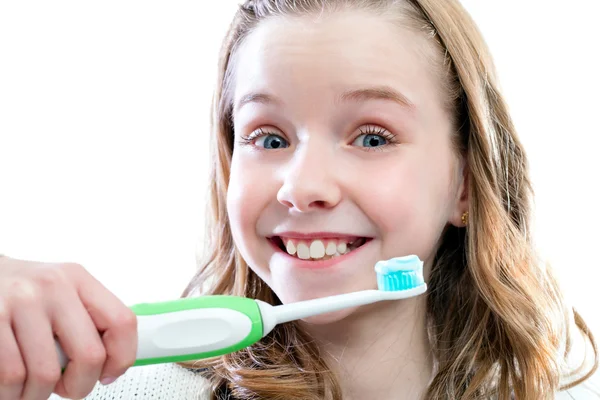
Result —
[{"label": "girl's bare pale forehead between hairline and eyebrows", "polygon": [[368,12],[274,17],[236,55],[234,104],[251,92],[298,99],[362,87],[389,87],[417,109],[439,101],[424,35]]}]

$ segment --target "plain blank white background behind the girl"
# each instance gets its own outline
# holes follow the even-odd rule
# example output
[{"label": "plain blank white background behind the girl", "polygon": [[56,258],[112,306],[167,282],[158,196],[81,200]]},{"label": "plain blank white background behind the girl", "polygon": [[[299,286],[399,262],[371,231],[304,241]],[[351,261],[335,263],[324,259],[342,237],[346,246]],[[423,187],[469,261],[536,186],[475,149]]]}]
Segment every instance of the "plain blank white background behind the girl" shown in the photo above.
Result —
[{"label": "plain blank white background behind the girl", "polygon": [[[127,304],[180,295],[236,3],[0,3],[0,252],[81,263]],[[599,3],[464,4],[530,157],[539,247],[598,337]]]}]

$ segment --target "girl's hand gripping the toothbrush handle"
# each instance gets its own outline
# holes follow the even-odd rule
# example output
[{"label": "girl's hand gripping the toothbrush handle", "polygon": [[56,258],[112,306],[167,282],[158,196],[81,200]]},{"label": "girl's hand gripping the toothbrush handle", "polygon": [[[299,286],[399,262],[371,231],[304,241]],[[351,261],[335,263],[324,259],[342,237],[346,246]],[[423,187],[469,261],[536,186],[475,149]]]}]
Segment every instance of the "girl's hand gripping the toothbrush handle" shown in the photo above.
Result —
[{"label": "girl's hand gripping the toothbrush handle", "polygon": [[81,265],[0,256],[0,348],[0,399],[83,398],[133,365],[137,319]]}]

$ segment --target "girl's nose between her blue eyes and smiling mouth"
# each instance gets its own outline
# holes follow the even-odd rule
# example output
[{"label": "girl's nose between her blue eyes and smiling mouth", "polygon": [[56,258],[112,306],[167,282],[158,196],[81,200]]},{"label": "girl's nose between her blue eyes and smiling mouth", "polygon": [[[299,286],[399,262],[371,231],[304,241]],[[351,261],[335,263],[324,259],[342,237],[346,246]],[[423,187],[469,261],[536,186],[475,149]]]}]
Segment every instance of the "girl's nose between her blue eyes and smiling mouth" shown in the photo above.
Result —
[{"label": "girl's nose between her blue eyes and smiling mouth", "polygon": [[318,143],[298,148],[283,171],[277,200],[297,212],[335,207],[342,197],[333,153]]}]

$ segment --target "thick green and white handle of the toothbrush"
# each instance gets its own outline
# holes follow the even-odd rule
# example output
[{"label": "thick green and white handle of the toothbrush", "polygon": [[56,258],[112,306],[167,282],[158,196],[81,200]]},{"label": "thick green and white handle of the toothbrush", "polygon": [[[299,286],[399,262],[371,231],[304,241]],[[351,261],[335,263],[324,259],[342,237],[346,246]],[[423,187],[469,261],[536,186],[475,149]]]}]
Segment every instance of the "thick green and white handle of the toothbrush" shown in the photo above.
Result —
[{"label": "thick green and white handle of the toothbrush", "polygon": [[[201,296],[131,307],[137,315],[134,366],[215,357],[248,347],[263,337],[263,321],[253,299]],[[56,343],[64,368],[67,359]]]}]

